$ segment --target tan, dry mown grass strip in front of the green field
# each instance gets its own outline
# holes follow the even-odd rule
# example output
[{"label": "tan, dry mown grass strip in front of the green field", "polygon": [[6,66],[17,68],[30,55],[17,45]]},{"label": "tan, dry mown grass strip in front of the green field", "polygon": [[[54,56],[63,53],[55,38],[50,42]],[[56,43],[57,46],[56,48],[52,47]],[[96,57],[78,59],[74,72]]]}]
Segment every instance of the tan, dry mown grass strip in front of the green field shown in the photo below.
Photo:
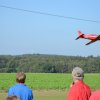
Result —
[{"label": "tan, dry mown grass strip in front of the green field", "polygon": [[[57,90],[35,90],[35,100],[66,100],[66,91]],[[7,93],[0,93],[0,100],[6,100]]]}]

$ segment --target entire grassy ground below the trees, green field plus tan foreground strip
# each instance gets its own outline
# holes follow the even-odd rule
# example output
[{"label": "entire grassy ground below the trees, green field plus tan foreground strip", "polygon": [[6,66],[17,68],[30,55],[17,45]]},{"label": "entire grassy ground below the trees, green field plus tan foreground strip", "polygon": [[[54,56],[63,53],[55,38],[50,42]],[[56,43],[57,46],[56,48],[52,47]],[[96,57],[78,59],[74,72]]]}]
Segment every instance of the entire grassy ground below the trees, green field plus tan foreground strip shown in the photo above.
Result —
[{"label": "entire grassy ground below the trees, green field plus tan foreground strip", "polygon": [[[72,82],[71,74],[26,74],[26,84],[33,90],[35,100],[65,100]],[[100,74],[85,74],[84,81],[92,90],[100,89]],[[14,73],[0,74],[0,100],[5,100],[8,89],[14,84]]]}]

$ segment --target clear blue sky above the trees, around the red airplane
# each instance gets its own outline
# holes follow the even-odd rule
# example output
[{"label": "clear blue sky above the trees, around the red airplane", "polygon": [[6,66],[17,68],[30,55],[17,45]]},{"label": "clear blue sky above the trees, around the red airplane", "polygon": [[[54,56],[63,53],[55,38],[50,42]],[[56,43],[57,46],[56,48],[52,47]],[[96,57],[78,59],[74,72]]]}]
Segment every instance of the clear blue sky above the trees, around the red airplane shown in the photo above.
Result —
[{"label": "clear blue sky above the trees, around the red airplane", "polygon": [[100,56],[100,41],[75,40],[78,30],[99,35],[100,23],[2,5],[99,22],[100,0],[0,0],[0,55]]}]

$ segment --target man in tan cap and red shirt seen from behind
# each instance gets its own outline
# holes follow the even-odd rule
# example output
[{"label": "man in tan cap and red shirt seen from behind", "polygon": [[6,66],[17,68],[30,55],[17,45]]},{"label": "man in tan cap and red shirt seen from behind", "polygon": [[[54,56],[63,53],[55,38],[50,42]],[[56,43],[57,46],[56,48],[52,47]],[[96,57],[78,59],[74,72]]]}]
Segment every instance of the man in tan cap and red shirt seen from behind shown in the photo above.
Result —
[{"label": "man in tan cap and red shirt seen from behind", "polygon": [[80,67],[73,69],[72,79],[67,100],[89,100],[91,89],[83,82],[84,71]]}]

